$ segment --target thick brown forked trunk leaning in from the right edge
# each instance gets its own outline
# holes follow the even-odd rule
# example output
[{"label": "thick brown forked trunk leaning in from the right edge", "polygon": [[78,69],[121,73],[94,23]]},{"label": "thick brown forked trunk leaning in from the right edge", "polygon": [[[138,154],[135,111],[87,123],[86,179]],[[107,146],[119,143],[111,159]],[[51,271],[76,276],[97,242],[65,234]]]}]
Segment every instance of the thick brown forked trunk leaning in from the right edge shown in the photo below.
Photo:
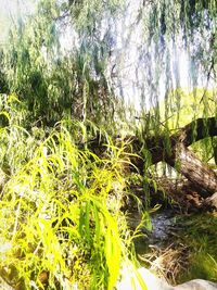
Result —
[{"label": "thick brown forked trunk leaning in from the right edge", "polygon": [[[129,157],[132,165],[141,174],[144,174],[148,156],[150,159],[149,164],[166,162],[189,181],[179,190],[171,185],[169,188],[167,186],[167,191],[173,192],[173,194],[176,192],[179,192],[179,194],[197,192],[203,199],[206,199],[217,192],[217,175],[207,164],[197,159],[188,147],[195,141],[215,136],[217,136],[217,119],[216,117],[209,117],[195,119],[170,137],[168,137],[168,134],[167,136],[159,135],[149,138],[127,136],[125,141],[127,140],[130,143],[128,150],[138,154],[138,156],[129,155]],[[118,140],[119,137],[116,138],[116,143],[118,143]],[[107,147],[103,147],[103,140],[99,137],[89,142],[88,148],[93,152],[103,152],[107,149]]]}]

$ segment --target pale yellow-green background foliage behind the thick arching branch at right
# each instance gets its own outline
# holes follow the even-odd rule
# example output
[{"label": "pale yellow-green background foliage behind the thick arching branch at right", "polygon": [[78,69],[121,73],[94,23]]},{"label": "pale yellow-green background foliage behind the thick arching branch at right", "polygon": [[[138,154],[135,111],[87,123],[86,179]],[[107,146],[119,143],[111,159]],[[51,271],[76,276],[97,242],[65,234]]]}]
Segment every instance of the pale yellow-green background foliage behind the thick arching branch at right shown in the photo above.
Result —
[{"label": "pale yellow-green background foliage behind the thick arching branch at right", "polygon": [[[162,130],[174,134],[192,121],[214,117],[217,114],[217,89],[195,88],[192,92],[184,89],[171,91],[159,105]],[[214,162],[216,137],[203,139],[192,144],[200,159]]]}]

